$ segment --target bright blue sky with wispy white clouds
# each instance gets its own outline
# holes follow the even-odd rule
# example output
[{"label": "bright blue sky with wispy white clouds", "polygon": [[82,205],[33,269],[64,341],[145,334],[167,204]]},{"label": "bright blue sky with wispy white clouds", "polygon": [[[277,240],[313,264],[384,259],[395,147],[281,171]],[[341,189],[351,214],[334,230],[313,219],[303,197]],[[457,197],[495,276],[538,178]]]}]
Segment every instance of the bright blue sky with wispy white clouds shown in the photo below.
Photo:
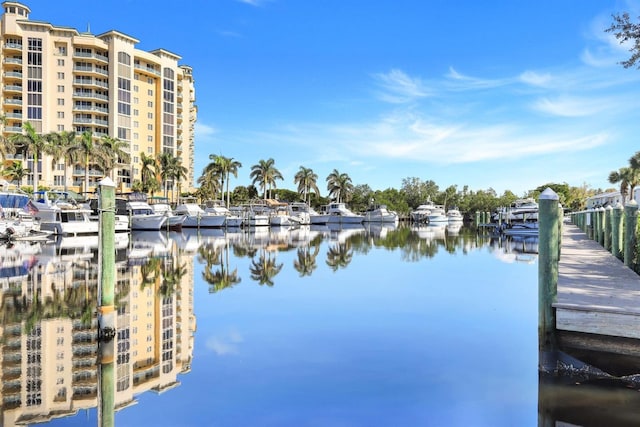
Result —
[{"label": "bright blue sky with wispy white clouds", "polygon": [[[524,194],[612,187],[640,150],[640,70],[604,32],[640,1],[25,1],[31,19],[115,29],[194,69],[196,177],[209,154],[272,157],[374,190],[433,180]],[[88,6],[89,5],[89,6]]]}]

